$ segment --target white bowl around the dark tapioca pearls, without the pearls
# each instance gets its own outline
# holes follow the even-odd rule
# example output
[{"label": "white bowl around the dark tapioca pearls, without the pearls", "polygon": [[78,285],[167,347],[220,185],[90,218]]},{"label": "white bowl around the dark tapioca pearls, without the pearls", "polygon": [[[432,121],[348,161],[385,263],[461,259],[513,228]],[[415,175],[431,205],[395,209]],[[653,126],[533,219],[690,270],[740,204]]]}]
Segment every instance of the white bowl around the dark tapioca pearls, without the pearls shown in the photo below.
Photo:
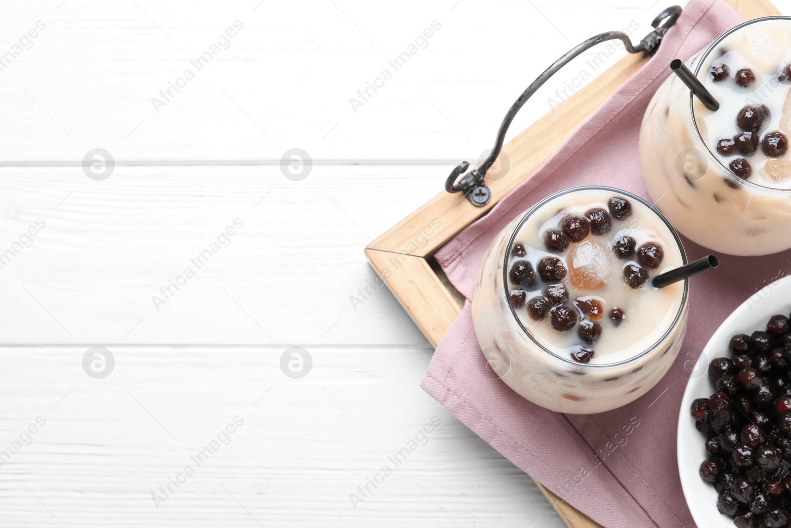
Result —
[{"label": "white bowl around the dark tapioca pearls, without the pearls", "polygon": [[755,330],[766,329],[769,318],[777,313],[788,315],[791,310],[791,275],[770,283],[744,301],[714,332],[692,370],[691,379],[684,391],[679,412],[677,450],[679,474],[687,506],[698,526],[728,526],[731,518],[717,511],[717,492],[713,485],[702,481],[698,474],[706,458],[703,443],[706,437],[694,428],[690,415],[692,401],[707,398],[717,392],[709,378],[709,363],[721,356],[730,356],[728,344],[735,334],[750,335]]}]

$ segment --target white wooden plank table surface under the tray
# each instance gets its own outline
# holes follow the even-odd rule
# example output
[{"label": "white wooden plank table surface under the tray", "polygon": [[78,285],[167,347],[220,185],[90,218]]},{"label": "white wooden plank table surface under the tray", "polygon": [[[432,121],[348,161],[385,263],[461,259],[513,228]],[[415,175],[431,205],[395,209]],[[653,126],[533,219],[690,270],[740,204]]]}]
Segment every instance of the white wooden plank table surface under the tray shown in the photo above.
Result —
[{"label": "white wooden plank table surface under the tray", "polygon": [[[562,526],[419,388],[432,350],[388,291],[361,296],[362,248],[478,159],[556,56],[608,29],[638,40],[664,6],[6,2],[0,526]],[[577,59],[512,130],[621,55]],[[302,180],[281,167],[293,148]],[[93,149],[107,179],[84,172]],[[83,368],[95,346],[104,378]],[[293,346],[302,378],[281,368]]]}]

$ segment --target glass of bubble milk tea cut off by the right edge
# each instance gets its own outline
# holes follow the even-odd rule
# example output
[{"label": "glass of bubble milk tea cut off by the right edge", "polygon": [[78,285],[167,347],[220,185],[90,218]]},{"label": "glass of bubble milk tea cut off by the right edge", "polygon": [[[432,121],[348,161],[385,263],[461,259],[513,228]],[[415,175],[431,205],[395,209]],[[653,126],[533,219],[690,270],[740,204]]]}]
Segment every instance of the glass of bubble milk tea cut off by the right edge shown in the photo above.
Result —
[{"label": "glass of bubble milk tea cut off by the right edge", "polygon": [[719,108],[676,75],[650,102],[640,131],[645,187],[692,241],[743,256],[791,247],[789,63],[791,17],[755,19],[687,61]]}]

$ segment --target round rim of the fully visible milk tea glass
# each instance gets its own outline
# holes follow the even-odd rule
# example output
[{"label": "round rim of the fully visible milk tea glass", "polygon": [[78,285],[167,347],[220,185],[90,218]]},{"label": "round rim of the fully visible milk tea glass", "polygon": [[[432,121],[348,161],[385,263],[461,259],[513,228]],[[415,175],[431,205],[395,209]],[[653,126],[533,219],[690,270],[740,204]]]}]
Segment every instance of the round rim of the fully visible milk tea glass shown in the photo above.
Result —
[{"label": "round rim of the fully visible milk tea glass", "polygon": [[565,358],[565,357],[562,357],[561,355],[558,355],[558,354],[554,353],[554,351],[551,351],[549,348],[547,348],[543,344],[539,343],[539,340],[537,340],[536,337],[534,337],[532,335],[532,333],[528,329],[526,329],[524,327],[524,325],[522,324],[521,319],[519,318],[519,316],[517,316],[517,310],[513,307],[513,302],[511,302],[511,296],[508,294],[508,290],[509,290],[509,288],[508,288],[509,256],[511,254],[511,252],[509,251],[509,248],[511,248],[513,246],[513,242],[514,242],[514,240],[517,237],[517,233],[519,232],[520,228],[524,225],[524,222],[527,222],[528,218],[530,218],[533,215],[533,213],[538,211],[539,208],[542,207],[543,205],[545,205],[546,203],[551,202],[553,199],[559,198],[560,196],[564,196],[566,194],[570,194],[571,192],[588,191],[588,190],[600,190],[600,191],[614,192],[615,194],[627,196],[630,199],[637,200],[639,203],[642,203],[643,205],[645,205],[645,207],[648,207],[649,211],[651,211],[651,212],[653,212],[653,214],[657,215],[662,220],[662,222],[664,222],[664,225],[668,227],[668,230],[670,230],[670,233],[673,235],[673,240],[676,241],[676,245],[678,246],[679,252],[681,253],[681,262],[683,264],[687,264],[687,253],[684,252],[684,247],[681,244],[681,239],[679,238],[679,234],[676,233],[676,230],[673,228],[671,223],[668,222],[667,218],[664,218],[664,215],[662,215],[662,213],[657,209],[657,207],[654,207],[652,204],[646,202],[645,199],[642,199],[640,196],[634,195],[634,194],[632,194],[631,192],[628,192],[628,191],[624,191],[623,189],[619,189],[619,188],[615,188],[615,187],[609,187],[607,185],[579,185],[577,187],[570,187],[570,188],[563,189],[562,191],[555,192],[555,193],[551,194],[550,196],[547,196],[546,198],[540,200],[534,206],[530,207],[530,209],[528,209],[528,211],[524,212],[524,214],[522,215],[522,218],[520,218],[520,221],[517,223],[517,226],[515,226],[513,228],[513,232],[511,233],[511,235],[510,235],[510,237],[508,239],[508,243],[505,246],[505,256],[503,257],[503,266],[502,266],[502,268],[503,268],[502,280],[503,280],[503,285],[505,286],[503,288],[503,292],[505,293],[505,297],[506,297],[506,299],[508,301],[508,306],[509,306],[509,309],[511,310],[511,315],[517,321],[517,325],[519,325],[519,328],[522,329],[522,332],[524,332],[524,334],[527,335],[530,338],[530,340],[532,340],[532,342],[534,344],[536,344],[536,346],[539,347],[542,351],[547,352],[548,354],[552,355],[553,357],[555,357],[557,359],[560,359],[561,361],[563,361],[565,363],[570,363],[570,364],[572,364],[573,366],[575,366],[577,368],[585,369],[585,368],[619,367],[621,365],[626,365],[628,363],[632,363],[632,362],[634,362],[634,361],[636,361],[638,359],[641,359],[643,356],[648,355],[651,351],[655,350],[664,340],[666,340],[668,338],[668,336],[670,335],[670,333],[674,329],[676,329],[676,326],[678,326],[679,322],[681,321],[681,316],[682,316],[682,314],[684,312],[684,309],[687,306],[687,296],[688,296],[688,291],[689,291],[689,278],[684,279],[684,291],[683,291],[683,294],[681,295],[681,302],[679,304],[679,309],[676,312],[676,317],[673,319],[673,322],[670,324],[670,326],[668,327],[667,331],[665,331],[662,334],[662,336],[654,344],[652,344],[648,348],[645,348],[645,350],[642,351],[640,354],[634,355],[633,357],[631,357],[629,359],[624,359],[623,361],[619,361],[617,363],[594,363],[594,364],[577,363],[573,359]]}]

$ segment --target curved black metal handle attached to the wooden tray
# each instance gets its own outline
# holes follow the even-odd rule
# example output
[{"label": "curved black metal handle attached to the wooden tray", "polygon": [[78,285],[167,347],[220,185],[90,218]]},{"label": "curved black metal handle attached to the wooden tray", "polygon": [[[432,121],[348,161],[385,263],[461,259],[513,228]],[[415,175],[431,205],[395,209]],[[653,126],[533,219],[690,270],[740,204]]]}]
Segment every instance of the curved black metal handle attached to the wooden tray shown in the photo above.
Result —
[{"label": "curved black metal handle attached to the wooden tray", "polygon": [[544,70],[543,73],[540,74],[538,78],[536,78],[536,80],[524,90],[524,92],[522,92],[517,101],[514,101],[514,103],[511,105],[511,108],[509,108],[508,113],[505,114],[505,118],[502,120],[502,123],[500,124],[500,129],[497,133],[497,140],[494,142],[494,148],[486,158],[486,161],[484,161],[478,168],[472,169],[469,173],[466,173],[464,176],[460,177],[460,175],[467,171],[470,166],[467,161],[462,161],[456,166],[456,169],[452,170],[448,176],[448,179],[445,180],[445,191],[464,192],[464,196],[467,196],[467,199],[469,199],[473,205],[478,207],[483,207],[486,205],[486,203],[489,203],[489,200],[491,199],[491,191],[488,187],[486,187],[486,182],[484,181],[484,178],[486,178],[486,171],[490,169],[492,164],[494,164],[494,161],[496,161],[500,155],[502,144],[505,141],[505,133],[508,131],[508,127],[511,125],[513,118],[517,116],[517,112],[519,112],[520,108],[524,106],[524,103],[526,103],[528,99],[532,97],[533,93],[536,93],[536,90],[539,89],[539,87],[543,85],[544,82],[547,82],[547,80],[551,78],[552,75],[557,73],[558,70],[560,70],[563,66],[566,66],[566,64],[570,63],[572,59],[577,57],[577,55],[580,55],[583,51],[587,51],[591,47],[596,46],[596,44],[601,44],[607,40],[623,41],[626,51],[629,53],[647,53],[653,56],[653,54],[657,52],[657,48],[662,42],[664,34],[668,32],[668,29],[676,23],[676,20],[678,20],[680,16],[680,6],[672,6],[664,9],[664,11],[662,11],[659,16],[654,18],[653,22],[651,22],[651,26],[654,28],[654,30],[645,36],[645,38],[641,40],[637,46],[632,45],[632,42],[626,33],[620,31],[610,31],[601,33],[600,35],[592,36],[588,40],[585,40],[585,42],[582,44],[573,47],[568,53],[566,53],[566,55],[563,55],[560,59],[555,61],[552,66],[549,66],[546,70]]}]

